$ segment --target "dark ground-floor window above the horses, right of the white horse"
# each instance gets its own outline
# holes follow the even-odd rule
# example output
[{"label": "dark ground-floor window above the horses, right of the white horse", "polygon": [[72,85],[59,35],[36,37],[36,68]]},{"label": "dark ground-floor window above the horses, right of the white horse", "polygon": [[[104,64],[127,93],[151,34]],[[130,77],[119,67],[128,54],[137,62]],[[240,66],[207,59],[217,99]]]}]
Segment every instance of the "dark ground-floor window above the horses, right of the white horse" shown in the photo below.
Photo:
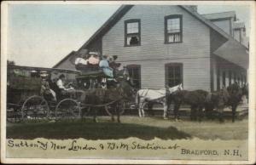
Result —
[{"label": "dark ground-floor window above the horses, right of the white horse", "polygon": [[183,83],[183,64],[166,64],[166,85],[174,87],[180,83]]}]

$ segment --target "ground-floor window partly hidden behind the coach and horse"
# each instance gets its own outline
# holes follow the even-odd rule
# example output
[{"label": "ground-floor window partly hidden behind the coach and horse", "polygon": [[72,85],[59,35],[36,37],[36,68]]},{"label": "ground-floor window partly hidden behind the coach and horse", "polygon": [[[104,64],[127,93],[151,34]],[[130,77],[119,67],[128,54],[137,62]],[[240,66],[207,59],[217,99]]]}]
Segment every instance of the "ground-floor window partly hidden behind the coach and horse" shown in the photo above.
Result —
[{"label": "ground-floor window partly hidden behind the coach and horse", "polygon": [[140,65],[127,65],[127,70],[132,78],[135,88],[141,88],[141,66]]}]

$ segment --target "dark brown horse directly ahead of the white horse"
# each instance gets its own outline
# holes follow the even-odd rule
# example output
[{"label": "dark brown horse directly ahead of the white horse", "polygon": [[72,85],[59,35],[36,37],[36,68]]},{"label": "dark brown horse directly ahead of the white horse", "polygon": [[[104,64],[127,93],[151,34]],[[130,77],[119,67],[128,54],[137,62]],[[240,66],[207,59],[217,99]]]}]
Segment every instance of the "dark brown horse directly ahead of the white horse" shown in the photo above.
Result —
[{"label": "dark brown horse directly ahead of the white horse", "polygon": [[168,107],[170,107],[171,103],[173,102],[174,118],[177,120],[179,119],[178,110],[180,105],[190,105],[190,119],[201,121],[202,110],[204,108],[207,94],[207,91],[204,90],[178,90],[170,94],[170,97],[168,98]]}]

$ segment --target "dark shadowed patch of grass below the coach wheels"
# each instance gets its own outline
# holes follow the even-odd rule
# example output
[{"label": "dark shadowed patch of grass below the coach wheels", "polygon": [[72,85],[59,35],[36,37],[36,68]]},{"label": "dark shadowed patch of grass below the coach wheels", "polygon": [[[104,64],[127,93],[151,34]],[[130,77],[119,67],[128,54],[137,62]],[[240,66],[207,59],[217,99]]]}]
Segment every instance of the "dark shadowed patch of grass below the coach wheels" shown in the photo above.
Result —
[{"label": "dark shadowed patch of grass below the coach wheels", "polygon": [[189,134],[177,128],[158,128],[135,123],[92,122],[91,120],[75,122],[27,122],[7,128],[7,138],[35,139],[186,139]]}]

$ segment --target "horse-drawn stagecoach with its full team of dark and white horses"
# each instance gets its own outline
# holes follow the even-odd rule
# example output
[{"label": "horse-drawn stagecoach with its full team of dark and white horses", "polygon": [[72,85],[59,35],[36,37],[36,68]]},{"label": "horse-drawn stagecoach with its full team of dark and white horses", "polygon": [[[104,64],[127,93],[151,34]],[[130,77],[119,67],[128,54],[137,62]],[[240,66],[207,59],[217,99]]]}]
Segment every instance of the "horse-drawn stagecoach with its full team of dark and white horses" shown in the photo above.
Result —
[{"label": "horse-drawn stagecoach with its full team of dark and white horses", "polygon": [[[61,74],[65,75],[66,83],[73,84],[75,90],[72,93],[60,91],[55,87],[55,80]],[[55,100],[40,92],[45,79],[49,82],[50,88],[55,91]],[[222,120],[224,107],[230,106],[234,122],[236,107],[242,95],[247,94],[247,86],[241,88],[237,83],[213,93],[203,90],[183,90],[179,84],[163,90],[141,89],[137,91],[135,97],[135,91],[131,88],[131,78],[125,69],[116,73],[118,83],[102,84],[102,79],[108,79],[108,77],[98,67],[88,68],[86,71],[72,71],[9,65],[7,120],[20,122],[43,118],[55,120],[81,118],[86,116],[92,108],[94,119],[96,119],[97,109],[102,107],[112,119],[115,112],[119,121],[119,115],[124,112],[125,106],[133,104],[136,98],[140,117],[144,116],[143,106],[146,102],[159,102],[164,105],[164,118],[167,117],[169,106],[173,103],[175,118],[178,118],[180,105],[187,104],[191,106],[191,119],[193,114],[197,113],[199,120],[201,120],[203,109],[208,116],[211,116],[213,109],[220,110],[219,117]],[[158,94],[160,97],[155,98]]]}]

